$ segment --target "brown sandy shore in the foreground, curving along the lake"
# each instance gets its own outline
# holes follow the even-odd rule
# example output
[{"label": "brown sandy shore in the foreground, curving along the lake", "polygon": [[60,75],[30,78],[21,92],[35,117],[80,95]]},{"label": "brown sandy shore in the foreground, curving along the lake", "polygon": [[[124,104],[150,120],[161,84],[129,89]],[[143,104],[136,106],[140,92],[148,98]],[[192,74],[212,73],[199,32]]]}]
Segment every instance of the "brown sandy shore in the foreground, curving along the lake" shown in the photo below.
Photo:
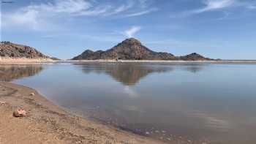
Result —
[{"label": "brown sandy shore in the foreground, curving along the lake", "polygon": [[[20,107],[27,116],[13,117]],[[0,115],[1,144],[162,143],[67,113],[34,89],[13,83],[0,82]]]}]

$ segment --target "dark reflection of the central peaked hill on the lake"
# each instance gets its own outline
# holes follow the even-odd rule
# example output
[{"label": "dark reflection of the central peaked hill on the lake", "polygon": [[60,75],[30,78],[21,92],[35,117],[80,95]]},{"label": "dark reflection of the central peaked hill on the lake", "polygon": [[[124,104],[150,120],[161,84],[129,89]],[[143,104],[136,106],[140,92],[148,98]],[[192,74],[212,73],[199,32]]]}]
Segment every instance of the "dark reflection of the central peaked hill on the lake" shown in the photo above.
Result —
[{"label": "dark reflection of the central peaked hill on the lake", "polygon": [[125,86],[133,86],[141,79],[154,72],[170,72],[173,67],[165,65],[148,65],[148,64],[81,64],[83,72],[97,72],[113,77],[116,81],[123,83]]}]

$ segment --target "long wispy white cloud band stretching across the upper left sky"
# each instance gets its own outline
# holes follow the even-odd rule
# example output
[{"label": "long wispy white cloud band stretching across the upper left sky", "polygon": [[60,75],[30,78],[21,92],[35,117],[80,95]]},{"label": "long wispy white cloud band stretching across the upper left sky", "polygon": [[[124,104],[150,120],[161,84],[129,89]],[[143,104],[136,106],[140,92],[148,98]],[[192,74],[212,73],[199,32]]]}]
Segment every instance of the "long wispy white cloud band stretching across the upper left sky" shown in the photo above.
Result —
[{"label": "long wispy white cloud band stretching across the upper left sky", "polygon": [[[135,17],[154,12],[149,0],[130,0],[122,3],[104,3],[98,0],[53,0],[45,3],[34,3],[10,12],[4,12],[4,27],[40,30],[46,25],[61,24],[63,20],[76,17],[102,18],[112,15],[123,15],[118,18]],[[134,12],[134,13],[131,13]],[[54,24],[53,24],[54,23]],[[22,28],[23,29],[23,28]]]}]

